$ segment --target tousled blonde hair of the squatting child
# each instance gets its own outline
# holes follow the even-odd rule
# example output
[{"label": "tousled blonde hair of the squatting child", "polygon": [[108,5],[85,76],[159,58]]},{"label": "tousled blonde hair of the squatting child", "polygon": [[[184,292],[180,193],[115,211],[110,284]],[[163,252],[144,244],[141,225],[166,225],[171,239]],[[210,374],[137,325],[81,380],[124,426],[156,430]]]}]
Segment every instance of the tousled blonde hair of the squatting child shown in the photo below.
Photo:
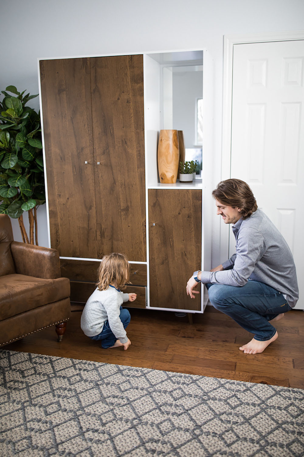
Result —
[{"label": "tousled blonde hair of the squatting child", "polygon": [[124,254],[113,252],[104,255],[98,268],[98,290],[107,290],[109,284],[125,289],[126,282],[129,282],[129,270],[129,262]]}]

